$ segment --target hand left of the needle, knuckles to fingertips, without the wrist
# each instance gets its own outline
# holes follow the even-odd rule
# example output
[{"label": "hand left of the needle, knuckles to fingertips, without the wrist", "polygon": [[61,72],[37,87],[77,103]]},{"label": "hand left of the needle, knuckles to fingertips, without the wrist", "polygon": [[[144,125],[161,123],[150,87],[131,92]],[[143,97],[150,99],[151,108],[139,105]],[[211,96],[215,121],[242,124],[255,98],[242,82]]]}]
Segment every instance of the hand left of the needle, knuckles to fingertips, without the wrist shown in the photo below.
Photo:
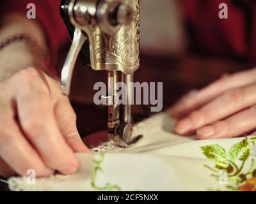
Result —
[{"label": "hand left of the needle, knuckles to fingertips, without the wrist", "polygon": [[74,173],[74,152],[88,152],[76,115],[60,84],[39,69],[27,68],[0,82],[0,175],[37,177],[54,170]]}]

